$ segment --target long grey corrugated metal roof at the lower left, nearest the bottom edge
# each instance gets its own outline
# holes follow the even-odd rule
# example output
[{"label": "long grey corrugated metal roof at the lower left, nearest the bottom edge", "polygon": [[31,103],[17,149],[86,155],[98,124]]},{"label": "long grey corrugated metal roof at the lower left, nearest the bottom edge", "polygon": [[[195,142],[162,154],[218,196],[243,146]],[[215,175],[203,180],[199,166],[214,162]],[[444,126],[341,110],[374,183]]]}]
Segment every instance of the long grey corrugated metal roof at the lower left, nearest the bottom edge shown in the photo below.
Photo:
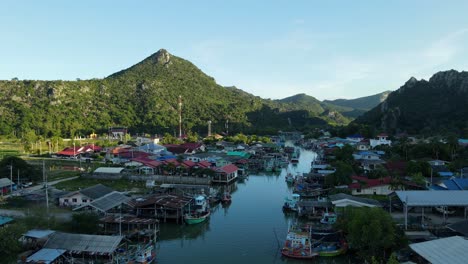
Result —
[{"label": "long grey corrugated metal roof at the lower left, nearest the bottom edge", "polygon": [[57,232],[49,238],[44,248],[111,254],[120,245],[122,239],[123,236],[99,236]]}]

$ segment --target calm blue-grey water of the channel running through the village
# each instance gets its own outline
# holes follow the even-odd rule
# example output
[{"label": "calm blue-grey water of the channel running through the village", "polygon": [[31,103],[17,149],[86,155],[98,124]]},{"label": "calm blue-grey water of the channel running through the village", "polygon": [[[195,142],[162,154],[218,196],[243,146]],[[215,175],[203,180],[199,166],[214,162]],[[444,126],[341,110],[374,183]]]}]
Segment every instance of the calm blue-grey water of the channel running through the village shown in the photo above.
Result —
[{"label": "calm blue-grey water of the channel running through the village", "polygon": [[[315,153],[303,150],[289,170],[309,172]],[[162,223],[158,263],[348,263],[346,257],[298,261],[281,256],[288,223],[282,211],[291,188],[286,169],[276,175],[250,175],[231,185],[232,203],[212,208],[210,220],[198,225]]]}]

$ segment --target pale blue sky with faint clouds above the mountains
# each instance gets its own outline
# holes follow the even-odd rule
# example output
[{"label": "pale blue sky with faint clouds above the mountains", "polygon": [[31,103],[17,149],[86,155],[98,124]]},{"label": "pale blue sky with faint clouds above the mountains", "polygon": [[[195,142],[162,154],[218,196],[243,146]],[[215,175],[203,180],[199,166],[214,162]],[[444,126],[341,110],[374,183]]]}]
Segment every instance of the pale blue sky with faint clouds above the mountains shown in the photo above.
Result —
[{"label": "pale blue sky with faint clouds above the mountains", "polygon": [[0,79],[103,78],[161,48],[224,86],[320,100],[468,70],[468,1],[1,1]]}]

